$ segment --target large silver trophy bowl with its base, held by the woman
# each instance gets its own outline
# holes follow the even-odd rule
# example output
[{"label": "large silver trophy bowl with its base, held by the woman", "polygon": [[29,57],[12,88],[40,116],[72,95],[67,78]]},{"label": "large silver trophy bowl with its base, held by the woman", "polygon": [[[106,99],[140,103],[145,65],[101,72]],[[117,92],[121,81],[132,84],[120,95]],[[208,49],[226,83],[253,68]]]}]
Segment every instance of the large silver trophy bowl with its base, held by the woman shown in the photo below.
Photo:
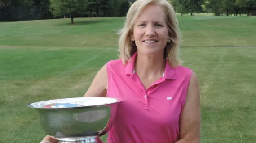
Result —
[{"label": "large silver trophy bowl with its base, held by the woman", "polygon": [[122,100],[110,97],[77,97],[40,101],[35,109],[47,135],[59,143],[102,143],[100,136],[111,128]]}]

